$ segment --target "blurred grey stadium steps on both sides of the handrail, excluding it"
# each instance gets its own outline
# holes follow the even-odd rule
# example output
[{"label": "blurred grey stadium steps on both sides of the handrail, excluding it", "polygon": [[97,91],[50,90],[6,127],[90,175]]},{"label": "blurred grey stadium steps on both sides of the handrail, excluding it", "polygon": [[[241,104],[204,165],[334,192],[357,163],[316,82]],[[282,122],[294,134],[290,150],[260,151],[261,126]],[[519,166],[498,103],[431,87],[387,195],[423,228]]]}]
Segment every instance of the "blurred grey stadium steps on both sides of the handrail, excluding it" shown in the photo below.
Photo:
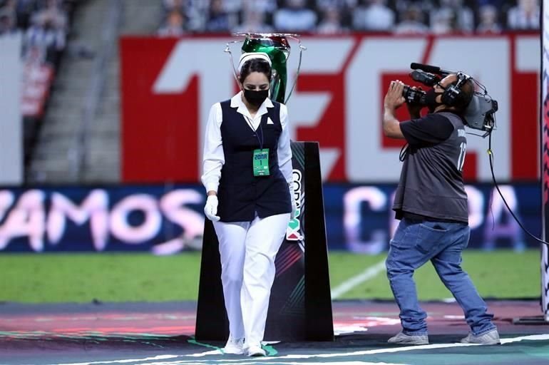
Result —
[{"label": "blurred grey stadium steps on both sides of the handrail, excluding it", "polygon": [[[101,51],[103,24],[110,0],[88,0],[76,9],[68,47]],[[120,34],[154,34],[160,21],[158,1],[123,0]],[[71,173],[71,150],[91,84],[93,59],[66,56],[53,84],[48,109],[27,170],[29,183],[118,183],[120,181],[120,92],[118,42],[107,63],[106,82],[96,118],[88,125],[86,160],[81,178]]]}]

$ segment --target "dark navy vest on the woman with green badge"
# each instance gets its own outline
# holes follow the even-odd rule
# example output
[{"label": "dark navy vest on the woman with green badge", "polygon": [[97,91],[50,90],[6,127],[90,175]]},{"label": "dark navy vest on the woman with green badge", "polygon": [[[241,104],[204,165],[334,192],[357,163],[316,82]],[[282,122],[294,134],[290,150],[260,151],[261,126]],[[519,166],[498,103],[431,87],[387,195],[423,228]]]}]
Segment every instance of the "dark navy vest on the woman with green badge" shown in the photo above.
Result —
[{"label": "dark navy vest on the woman with green badge", "polygon": [[[230,100],[221,103],[225,164],[217,188],[217,214],[222,222],[250,222],[256,212],[260,218],[292,212],[289,187],[278,166],[280,104],[272,103],[275,107],[267,108],[257,130],[252,130],[237,108],[230,107]],[[272,124],[267,124],[267,118]],[[261,139],[263,148],[269,148],[270,175],[256,177],[252,168],[253,150],[260,148]]]}]

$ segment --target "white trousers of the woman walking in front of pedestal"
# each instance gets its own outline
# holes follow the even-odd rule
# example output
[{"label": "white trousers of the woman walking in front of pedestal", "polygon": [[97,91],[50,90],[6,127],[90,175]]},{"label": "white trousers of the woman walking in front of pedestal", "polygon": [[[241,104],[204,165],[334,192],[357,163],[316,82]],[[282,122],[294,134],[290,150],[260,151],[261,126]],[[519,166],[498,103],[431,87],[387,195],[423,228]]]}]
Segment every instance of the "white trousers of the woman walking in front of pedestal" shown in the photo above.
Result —
[{"label": "white trousers of the woman walking in front of pedestal", "polygon": [[260,346],[265,333],[275,257],[289,213],[252,222],[213,222],[221,256],[221,281],[229,331],[246,346]]}]

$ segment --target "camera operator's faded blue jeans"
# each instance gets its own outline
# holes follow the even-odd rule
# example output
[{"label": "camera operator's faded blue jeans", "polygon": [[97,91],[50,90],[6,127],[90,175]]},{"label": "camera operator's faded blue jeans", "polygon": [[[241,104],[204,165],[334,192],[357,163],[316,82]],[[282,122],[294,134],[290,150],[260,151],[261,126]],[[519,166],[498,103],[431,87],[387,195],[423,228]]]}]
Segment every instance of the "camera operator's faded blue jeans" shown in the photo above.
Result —
[{"label": "camera operator's faded blue jeans", "polygon": [[404,218],[399,223],[386,259],[387,277],[391,283],[404,334],[427,334],[427,314],[419,307],[414,270],[431,260],[442,282],[463,309],[467,324],[475,335],[496,326],[493,314],[476,291],[469,275],[461,269],[461,252],[467,247],[468,225],[451,222],[416,221]]}]

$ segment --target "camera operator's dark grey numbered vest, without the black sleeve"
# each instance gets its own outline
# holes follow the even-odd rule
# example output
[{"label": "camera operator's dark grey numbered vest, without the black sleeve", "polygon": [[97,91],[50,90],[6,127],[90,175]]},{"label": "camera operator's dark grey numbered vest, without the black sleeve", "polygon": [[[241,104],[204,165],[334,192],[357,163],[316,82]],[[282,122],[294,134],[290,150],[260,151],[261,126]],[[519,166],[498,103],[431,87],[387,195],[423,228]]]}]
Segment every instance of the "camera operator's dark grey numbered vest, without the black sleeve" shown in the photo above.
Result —
[{"label": "camera operator's dark grey numbered vest, without the black sleeve", "polygon": [[467,223],[467,194],[461,175],[467,145],[463,120],[453,113],[438,114],[450,120],[453,132],[436,145],[410,148],[393,210]]}]

